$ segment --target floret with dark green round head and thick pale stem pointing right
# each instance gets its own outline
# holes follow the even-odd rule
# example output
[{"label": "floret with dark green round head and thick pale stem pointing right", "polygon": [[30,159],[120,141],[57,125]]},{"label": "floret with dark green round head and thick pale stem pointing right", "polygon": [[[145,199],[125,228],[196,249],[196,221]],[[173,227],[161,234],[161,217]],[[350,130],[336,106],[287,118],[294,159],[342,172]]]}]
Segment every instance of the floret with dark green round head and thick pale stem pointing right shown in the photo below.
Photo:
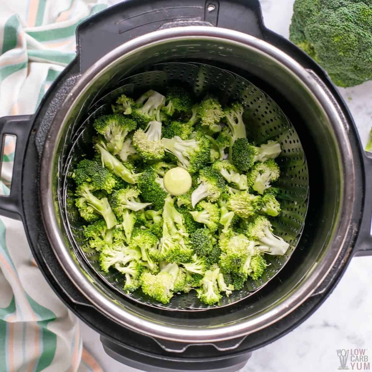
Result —
[{"label": "floret with dark green round head and thick pale stem pointing right", "polygon": [[256,161],[275,159],[281,152],[280,144],[276,141],[267,141],[256,147],[248,142],[246,138],[238,138],[232,145],[232,163],[241,172],[247,172]]}]

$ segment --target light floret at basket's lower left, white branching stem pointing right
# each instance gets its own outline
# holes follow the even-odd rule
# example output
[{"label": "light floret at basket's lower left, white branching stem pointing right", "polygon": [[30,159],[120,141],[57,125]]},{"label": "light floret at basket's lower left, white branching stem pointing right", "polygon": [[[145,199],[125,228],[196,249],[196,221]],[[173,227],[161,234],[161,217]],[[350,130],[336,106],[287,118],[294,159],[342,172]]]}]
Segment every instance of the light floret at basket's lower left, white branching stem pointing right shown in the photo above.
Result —
[{"label": "light floret at basket's lower left, white branching stem pointing right", "polygon": [[99,253],[100,266],[105,273],[116,263],[125,266],[133,260],[138,261],[140,259],[141,253],[139,250],[127,247],[124,244],[106,244]]}]

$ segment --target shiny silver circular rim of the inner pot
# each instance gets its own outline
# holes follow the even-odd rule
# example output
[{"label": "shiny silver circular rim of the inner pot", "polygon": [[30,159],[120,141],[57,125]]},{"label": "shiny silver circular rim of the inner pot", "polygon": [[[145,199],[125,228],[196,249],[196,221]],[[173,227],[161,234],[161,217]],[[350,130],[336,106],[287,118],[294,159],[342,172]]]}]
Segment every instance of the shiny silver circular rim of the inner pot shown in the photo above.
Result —
[{"label": "shiny silver circular rim of the inner pot", "polygon": [[[264,54],[266,58],[270,58],[274,63],[280,64],[281,68],[295,76],[298,83],[302,84],[303,88],[308,91],[310,96],[319,103],[319,106],[324,110],[325,115],[332,124],[332,129],[339,143],[339,148],[342,149],[339,158],[339,166],[340,169],[343,170],[343,174],[347,174],[349,180],[349,182],[342,182],[341,180],[342,190],[338,218],[334,224],[333,231],[330,232],[330,244],[326,252],[323,257],[314,264],[312,270],[307,273],[301,282],[294,286],[291,295],[287,296],[280,304],[267,310],[264,314],[260,314],[259,316],[255,314],[248,319],[237,321],[232,325],[214,328],[190,328],[162,325],[158,322],[151,321],[151,319],[144,319],[130,312],[128,309],[115,304],[103,292],[97,290],[91,280],[79,269],[78,264],[64,245],[64,238],[58,228],[54,210],[54,195],[52,194],[52,174],[56,156],[55,150],[60,140],[62,128],[64,128],[67,122],[67,118],[73,109],[74,103],[77,102],[78,98],[87,89],[89,89],[92,81],[105,73],[105,71],[118,61],[134,53],[143,52],[145,49],[157,43],[195,38],[211,41],[216,39],[228,40],[229,43],[247,48],[247,50],[254,51],[255,53]],[[312,72],[310,74],[309,71],[298,64],[293,58],[289,57],[289,55],[280,51],[280,49],[254,36],[222,28],[187,26],[151,32],[126,42],[95,62],[92,67],[80,77],[77,84],[64,100],[64,103],[55,115],[52,125],[49,128],[41,158],[39,192],[40,195],[44,195],[44,197],[41,198],[42,218],[54,254],[70,280],[94,307],[114,321],[148,336],[172,341],[203,343],[232,339],[256,332],[282,319],[311,296],[325,276],[330,272],[343,248],[351,225],[352,207],[355,200],[355,170],[352,150],[347,138],[347,130],[343,125],[340,110],[337,110],[335,103],[331,100],[327,92],[321,88],[320,84],[314,80],[312,74],[314,73]],[[350,180],[354,180],[354,182],[350,182]],[[339,218],[339,216],[343,218]]]}]

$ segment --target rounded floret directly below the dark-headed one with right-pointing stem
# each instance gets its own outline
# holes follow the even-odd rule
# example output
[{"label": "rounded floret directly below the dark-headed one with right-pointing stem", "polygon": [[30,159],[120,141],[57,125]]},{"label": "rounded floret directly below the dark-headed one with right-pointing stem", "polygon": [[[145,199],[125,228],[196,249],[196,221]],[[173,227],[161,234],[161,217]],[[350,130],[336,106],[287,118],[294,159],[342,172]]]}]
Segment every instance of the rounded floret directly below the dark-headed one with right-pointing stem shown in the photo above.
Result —
[{"label": "rounded floret directly below the dark-headed one with right-pointing stem", "polygon": [[248,186],[263,195],[271,187],[270,182],[276,181],[280,176],[280,169],[275,160],[269,159],[264,163],[256,163],[248,174]]}]

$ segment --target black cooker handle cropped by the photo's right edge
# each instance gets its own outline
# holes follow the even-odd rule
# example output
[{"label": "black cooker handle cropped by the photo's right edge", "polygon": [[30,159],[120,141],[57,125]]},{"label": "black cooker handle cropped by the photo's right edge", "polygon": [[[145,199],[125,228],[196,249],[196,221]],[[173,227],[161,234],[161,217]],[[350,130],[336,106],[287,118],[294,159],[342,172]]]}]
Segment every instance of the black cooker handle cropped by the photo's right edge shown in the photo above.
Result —
[{"label": "black cooker handle cropped by the photo's right edge", "polygon": [[365,152],[363,160],[366,189],[362,222],[360,224],[359,234],[355,244],[355,256],[372,255],[372,153]]}]

